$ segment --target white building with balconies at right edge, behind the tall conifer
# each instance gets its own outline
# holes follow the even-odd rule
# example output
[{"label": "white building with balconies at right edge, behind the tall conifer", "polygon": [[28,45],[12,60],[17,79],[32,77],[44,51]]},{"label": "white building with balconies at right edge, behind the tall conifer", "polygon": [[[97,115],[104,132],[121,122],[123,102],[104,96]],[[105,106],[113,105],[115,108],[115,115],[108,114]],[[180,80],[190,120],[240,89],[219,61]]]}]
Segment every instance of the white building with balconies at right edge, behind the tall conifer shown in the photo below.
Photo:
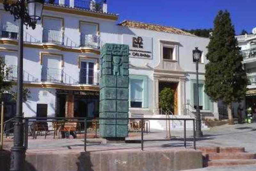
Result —
[{"label": "white building with balconies at right edge, behind the tall conifer", "polygon": [[252,30],[252,34],[236,36],[238,46],[241,48],[244,57],[244,68],[247,72],[249,84],[245,98],[244,109],[251,107],[256,110],[256,28]]}]

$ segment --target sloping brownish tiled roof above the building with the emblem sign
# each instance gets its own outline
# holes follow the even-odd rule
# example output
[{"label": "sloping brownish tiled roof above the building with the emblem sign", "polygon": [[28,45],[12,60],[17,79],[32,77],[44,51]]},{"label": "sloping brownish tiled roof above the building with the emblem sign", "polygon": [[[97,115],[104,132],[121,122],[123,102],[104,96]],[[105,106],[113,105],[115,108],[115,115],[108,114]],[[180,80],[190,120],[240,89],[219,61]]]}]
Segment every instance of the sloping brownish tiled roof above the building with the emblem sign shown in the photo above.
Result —
[{"label": "sloping brownish tiled roof above the building with the emblem sign", "polygon": [[149,24],[149,23],[143,23],[138,21],[129,21],[124,20],[121,23],[118,24],[119,26],[125,26],[125,27],[132,27],[132,28],[139,28],[144,30],[151,30],[156,32],[165,32],[165,33],[173,33],[173,34],[181,34],[181,35],[188,35],[188,36],[196,36],[195,34],[185,32],[181,29],[170,27],[170,26],[160,26],[156,24]]}]

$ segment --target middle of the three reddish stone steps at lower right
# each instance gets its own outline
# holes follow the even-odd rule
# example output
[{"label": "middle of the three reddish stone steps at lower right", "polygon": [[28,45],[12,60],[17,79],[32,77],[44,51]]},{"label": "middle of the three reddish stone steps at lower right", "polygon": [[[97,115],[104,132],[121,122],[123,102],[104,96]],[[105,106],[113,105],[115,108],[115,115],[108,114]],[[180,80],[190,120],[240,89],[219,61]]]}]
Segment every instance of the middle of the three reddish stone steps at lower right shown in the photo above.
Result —
[{"label": "middle of the three reddish stone steps at lower right", "polygon": [[240,159],[240,160],[247,160],[247,159],[256,159],[255,153],[215,153],[215,154],[208,154],[208,160],[232,160],[232,159]]}]

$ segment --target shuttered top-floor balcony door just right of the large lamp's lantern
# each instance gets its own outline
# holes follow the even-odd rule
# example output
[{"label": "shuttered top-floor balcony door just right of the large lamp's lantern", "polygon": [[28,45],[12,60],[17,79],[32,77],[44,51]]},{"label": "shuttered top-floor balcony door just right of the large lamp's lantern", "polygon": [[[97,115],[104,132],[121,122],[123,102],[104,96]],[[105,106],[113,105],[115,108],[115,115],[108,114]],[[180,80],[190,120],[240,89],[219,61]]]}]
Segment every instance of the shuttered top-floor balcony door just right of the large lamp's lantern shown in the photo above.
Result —
[{"label": "shuttered top-floor balcony door just right of the large lamp's lantern", "polygon": [[62,20],[44,18],[43,41],[48,43],[63,44]]}]

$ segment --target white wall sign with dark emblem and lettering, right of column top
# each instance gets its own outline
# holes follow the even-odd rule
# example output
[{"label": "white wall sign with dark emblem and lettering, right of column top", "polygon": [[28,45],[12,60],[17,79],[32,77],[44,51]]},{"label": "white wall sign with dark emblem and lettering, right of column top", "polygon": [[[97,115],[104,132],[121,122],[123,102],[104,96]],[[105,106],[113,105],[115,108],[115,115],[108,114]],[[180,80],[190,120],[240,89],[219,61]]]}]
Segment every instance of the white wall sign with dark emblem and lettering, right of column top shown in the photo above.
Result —
[{"label": "white wall sign with dark emblem and lettering, right of column top", "polygon": [[129,57],[152,59],[152,37],[123,34],[123,44],[129,45]]}]

